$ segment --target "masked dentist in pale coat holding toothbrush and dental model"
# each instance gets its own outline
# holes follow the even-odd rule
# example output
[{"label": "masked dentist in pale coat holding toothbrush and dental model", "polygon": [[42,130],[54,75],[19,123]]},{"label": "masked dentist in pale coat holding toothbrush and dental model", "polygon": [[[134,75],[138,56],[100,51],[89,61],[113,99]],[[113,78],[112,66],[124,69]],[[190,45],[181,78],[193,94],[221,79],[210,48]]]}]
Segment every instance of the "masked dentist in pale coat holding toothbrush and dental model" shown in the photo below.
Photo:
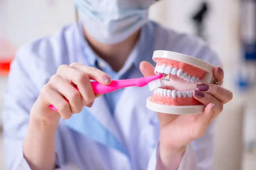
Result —
[{"label": "masked dentist in pale coat holding toothbrush and dental model", "polygon": [[[220,86],[216,54],[195,37],[149,21],[154,0],[74,3],[80,22],[25,45],[12,62],[3,109],[7,170],[210,170],[212,122],[232,99]],[[217,65],[220,85],[199,85],[194,94],[204,113],[150,111],[148,87],[93,93],[90,79],[108,85],[153,75],[154,50]]]}]

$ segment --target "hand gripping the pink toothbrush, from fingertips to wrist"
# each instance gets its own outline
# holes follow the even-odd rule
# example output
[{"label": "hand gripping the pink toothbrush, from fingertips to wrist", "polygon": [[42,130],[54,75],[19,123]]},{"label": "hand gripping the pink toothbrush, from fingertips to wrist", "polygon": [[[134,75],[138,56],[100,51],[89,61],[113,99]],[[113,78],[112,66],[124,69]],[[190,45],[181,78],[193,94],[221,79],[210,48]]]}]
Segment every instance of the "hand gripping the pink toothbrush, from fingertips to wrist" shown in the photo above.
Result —
[{"label": "hand gripping the pink toothbrush, from fingertips to wrist", "polygon": [[[90,79],[103,85],[111,83],[108,74],[97,68],[79,63],[61,65],[57,73],[41,89],[30,111],[32,119],[46,125],[58,125],[60,117],[69,119],[73,113],[80,113],[84,106],[92,107],[94,99],[100,95],[94,94]],[[74,87],[75,85],[79,91]],[[57,108],[58,112],[52,111],[49,105]]]}]

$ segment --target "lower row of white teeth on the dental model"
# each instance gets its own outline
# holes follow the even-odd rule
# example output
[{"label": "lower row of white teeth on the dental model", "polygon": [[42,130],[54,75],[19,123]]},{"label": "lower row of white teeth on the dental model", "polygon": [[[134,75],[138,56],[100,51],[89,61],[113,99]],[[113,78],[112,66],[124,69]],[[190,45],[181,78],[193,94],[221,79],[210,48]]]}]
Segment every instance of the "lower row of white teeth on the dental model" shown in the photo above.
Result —
[{"label": "lower row of white teeth on the dental model", "polygon": [[154,90],[154,94],[157,94],[158,96],[172,96],[173,99],[175,99],[176,97],[181,98],[183,97],[193,97],[193,91],[176,91],[176,90],[167,90],[167,89],[163,89],[163,88],[157,88],[156,90]]}]

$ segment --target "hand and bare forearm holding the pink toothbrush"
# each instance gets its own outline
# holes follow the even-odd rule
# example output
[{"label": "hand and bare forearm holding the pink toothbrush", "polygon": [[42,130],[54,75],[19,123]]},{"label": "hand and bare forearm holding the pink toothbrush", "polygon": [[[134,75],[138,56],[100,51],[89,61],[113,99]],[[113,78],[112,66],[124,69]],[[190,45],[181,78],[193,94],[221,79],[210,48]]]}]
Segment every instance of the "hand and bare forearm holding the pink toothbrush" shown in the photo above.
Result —
[{"label": "hand and bare forearm holding the pink toothbrush", "polygon": [[[61,65],[42,88],[30,111],[29,127],[23,143],[24,158],[31,169],[55,169],[55,136],[60,117],[69,119],[73,113],[81,112],[84,105],[91,107],[99,96],[94,94],[90,79],[104,85],[111,83],[111,78],[102,71],[72,63]],[[49,105],[59,112],[52,111]]]}]

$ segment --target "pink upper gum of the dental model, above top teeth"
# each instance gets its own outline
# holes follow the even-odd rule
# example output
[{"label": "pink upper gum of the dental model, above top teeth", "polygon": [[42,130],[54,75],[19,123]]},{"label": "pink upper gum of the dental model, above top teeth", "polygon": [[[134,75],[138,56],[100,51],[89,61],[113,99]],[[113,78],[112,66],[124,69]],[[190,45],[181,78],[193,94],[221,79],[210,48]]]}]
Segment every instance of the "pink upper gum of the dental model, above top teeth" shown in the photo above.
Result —
[{"label": "pink upper gum of the dental model, above top teeth", "polygon": [[195,76],[202,78],[206,74],[205,71],[201,70],[200,68],[196,68],[195,66],[186,64],[184,62],[178,62],[172,59],[163,59],[158,58],[157,59],[157,65],[171,65],[172,68],[183,69],[183,72],[186,72],[188,75]]}]

